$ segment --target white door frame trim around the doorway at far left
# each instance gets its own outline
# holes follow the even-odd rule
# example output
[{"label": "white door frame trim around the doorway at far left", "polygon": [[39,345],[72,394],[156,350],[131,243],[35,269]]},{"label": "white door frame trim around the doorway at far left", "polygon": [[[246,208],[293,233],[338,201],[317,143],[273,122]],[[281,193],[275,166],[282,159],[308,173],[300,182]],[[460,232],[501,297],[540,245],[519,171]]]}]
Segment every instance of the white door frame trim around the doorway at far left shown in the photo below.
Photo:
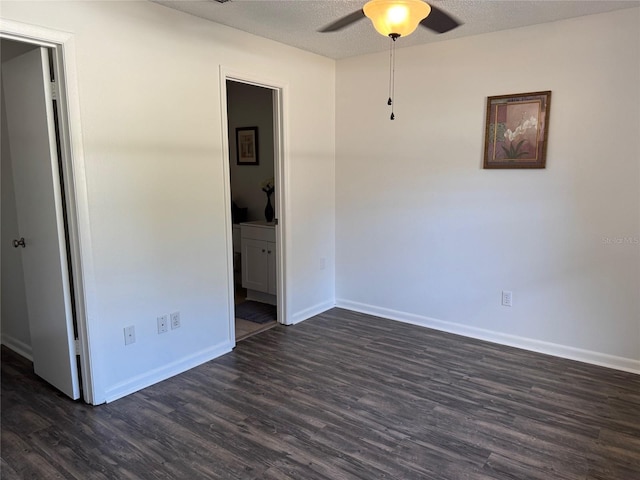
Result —
[{"label": "white door frame trim around the doorway at far left", "polygon": [[74,37],[40,26],[2,19],[0,37],[22,43],[31,43],[53,49],[53,64],[58,82],[60,106],[60,140],[64,188],[67,200],[69,249],[73,272],[73,288],[78,327],[78,343],[82,393],[87,403],[97,405],[103,399],[95,396],[96,388],[91,357],[89,305],[94,289],[93,264],[91,259],[91,235],[87,185],[80,128],[80,107],[75,61]]}]

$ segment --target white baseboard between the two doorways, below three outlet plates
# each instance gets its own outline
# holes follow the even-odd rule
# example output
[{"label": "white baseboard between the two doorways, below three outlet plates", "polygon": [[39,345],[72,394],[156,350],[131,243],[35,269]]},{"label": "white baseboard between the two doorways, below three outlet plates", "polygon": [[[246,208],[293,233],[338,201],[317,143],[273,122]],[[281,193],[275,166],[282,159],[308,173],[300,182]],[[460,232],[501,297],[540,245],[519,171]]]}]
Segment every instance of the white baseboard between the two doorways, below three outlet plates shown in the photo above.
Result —
[{"label": "white baseboard between the two doorways, below three outlet plates", "polygon": [[229,353],[233,349],[233,344],[224,342],[200,352],[189,355],[180,360],[172,362],[161,368],[151,370],[150,372],[138,375],[137,377],[126,380],[125,382],[108,388],[105,393],[105,401],[113,402],[131,393],[135,393],[143,388],[150,387],[153,384],[171,378],[180,373],[184,373],[198,365],[202,365],[214,358],[218,358],[225,353]]}]

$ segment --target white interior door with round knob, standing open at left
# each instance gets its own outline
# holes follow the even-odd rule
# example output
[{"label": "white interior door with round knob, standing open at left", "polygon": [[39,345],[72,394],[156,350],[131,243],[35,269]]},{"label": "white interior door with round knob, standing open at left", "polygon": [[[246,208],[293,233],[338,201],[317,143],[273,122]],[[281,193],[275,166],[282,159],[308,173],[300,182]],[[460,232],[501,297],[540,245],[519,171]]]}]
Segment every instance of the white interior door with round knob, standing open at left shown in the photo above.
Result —
[{"label": "white interior door with round knob, standing open at left", "polygon": [[80,397],[48,52],[2,64],[24,282],[37,375]]}]

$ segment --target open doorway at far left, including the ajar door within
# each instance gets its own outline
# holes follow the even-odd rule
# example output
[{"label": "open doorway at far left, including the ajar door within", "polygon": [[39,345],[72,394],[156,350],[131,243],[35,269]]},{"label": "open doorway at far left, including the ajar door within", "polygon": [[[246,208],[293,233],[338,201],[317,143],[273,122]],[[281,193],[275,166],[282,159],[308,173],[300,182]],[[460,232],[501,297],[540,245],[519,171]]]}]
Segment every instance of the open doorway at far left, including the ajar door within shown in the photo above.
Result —
[{"label": "open doorway at far left, including the ajar door within", "polygon": [[91,403],[62,47],[0,33],[2,344]]}]

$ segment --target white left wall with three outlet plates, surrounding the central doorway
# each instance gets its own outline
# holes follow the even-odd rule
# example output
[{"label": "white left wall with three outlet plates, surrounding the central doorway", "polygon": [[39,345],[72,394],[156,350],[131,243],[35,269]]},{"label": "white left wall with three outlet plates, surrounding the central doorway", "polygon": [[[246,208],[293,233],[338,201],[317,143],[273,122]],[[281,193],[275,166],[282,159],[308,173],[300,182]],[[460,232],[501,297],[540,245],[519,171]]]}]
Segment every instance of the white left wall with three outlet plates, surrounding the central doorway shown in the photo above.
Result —
[{"label": "white left wall with three outlet plates, surrounding the central doorway", "polygon": [[[146,1],[3,1],[1,15],[74,35],[96,403],[233,345],[220,65],[287,85],[286,310],[301,320],[333,305],[318,260],[334,258],[333,61]],[[173,311],[182,327],[158,335]]]}]

